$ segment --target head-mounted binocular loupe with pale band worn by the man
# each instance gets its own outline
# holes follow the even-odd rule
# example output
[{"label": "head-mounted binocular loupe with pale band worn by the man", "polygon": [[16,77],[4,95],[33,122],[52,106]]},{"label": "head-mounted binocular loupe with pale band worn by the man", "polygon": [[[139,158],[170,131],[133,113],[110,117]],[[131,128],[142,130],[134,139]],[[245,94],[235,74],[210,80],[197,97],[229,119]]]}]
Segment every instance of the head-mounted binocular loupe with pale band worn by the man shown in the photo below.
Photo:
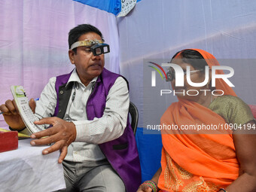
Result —
[{"label": "head-mounted binocular loupe with pale band worn by the man", "polygon": [[101,54],[109,53],[110,48],[108,44],[104,44],[102,40],[89,40],[85,39],[84,41],[76,41],[72,46],[70,47],[70,50],[75,49],[76,47],[90,47],[90,50],[93,52],[94,56],[98,56]]}]

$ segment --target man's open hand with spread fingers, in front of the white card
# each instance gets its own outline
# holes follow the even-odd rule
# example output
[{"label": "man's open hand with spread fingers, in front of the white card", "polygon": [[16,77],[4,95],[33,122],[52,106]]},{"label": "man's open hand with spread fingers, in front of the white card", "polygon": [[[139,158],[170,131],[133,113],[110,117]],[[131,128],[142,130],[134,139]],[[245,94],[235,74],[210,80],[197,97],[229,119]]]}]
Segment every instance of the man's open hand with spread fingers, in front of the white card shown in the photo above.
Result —
[{"label": "man's open hand with spread fingers, in front of the white card", "polygon": [[[33,133],[30,137],[32,140],[31,145],[48,145],[54,143],[50,148],[43,150],[43,154],[50,154],[53,151],[60,150],[58,163],[62,163],[62,160],[66,157],[69,145],[75,141],[76,129],[75,124],[62,120],[59,117],[47,117],[41,120],[36,120],[35,124],[51,124],[52,127],[47,130],[43,130],[38,133]],[[42,138],[44,137],[44,138]]]}]

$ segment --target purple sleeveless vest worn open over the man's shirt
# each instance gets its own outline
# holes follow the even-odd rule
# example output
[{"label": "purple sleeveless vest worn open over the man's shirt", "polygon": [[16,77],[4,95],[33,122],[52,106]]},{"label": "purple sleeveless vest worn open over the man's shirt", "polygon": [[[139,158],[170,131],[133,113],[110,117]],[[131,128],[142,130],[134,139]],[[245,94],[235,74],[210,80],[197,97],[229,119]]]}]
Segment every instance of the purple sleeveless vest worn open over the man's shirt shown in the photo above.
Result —
[{"label": "purple sleeveless vest worn open over the man's shirt", "polygon": [[[72,73],[56,77],[55,89],[57,93],[57,105],[53,116],[64,117],[72,90],[72,86],[66,86],[71,74]],[[102,117],[108,91],[118,77],[120,77],[120,75],[103,69],[102,74],[99,75],[95,87],[93,87],[92,93],[87,100],[86,110],[88,120],[93,120],[94,117]],[[123,135],[110,142],[100,144],[99,148],[102,150],[103,154],[105,154],[105,157],[120,178],[122,178],[126,192],[135,192],[139,184],[141,184],[142,175],[136,140],[133,135],[133,129],[130,126],[129,116]]]}]

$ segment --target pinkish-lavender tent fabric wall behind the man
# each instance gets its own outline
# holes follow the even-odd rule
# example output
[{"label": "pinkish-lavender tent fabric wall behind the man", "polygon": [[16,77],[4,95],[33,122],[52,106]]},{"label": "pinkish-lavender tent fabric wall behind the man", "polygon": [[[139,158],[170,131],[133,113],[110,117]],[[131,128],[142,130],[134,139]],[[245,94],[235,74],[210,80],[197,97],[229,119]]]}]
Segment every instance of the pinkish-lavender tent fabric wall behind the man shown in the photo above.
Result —
[{"label": "pinkish-lavender tent fabric wall behind the man", "polygon": [[[23,85],[38,98],[49,78],[71,72],[68,33],[81,23],[99,28],[110,44],[105,67],[119,73],[119,40],[114,14],[71,0],[0,2],[0,103],[11,85]],[[6,127],[2,115],[0,127]]]}]

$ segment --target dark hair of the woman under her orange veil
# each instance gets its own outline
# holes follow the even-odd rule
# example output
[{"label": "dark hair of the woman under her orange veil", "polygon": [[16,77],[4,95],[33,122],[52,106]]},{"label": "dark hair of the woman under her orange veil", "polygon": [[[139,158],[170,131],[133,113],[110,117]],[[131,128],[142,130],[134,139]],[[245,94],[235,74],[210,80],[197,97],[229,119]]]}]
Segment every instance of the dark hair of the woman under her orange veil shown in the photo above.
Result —
[{"label": "dark hair of the woman under her orange veil", "polygon": [[[181,50],[175,53],[174,56],[172,56],[172,59],[175,58],[175,56],[178,55],[178,53],[182,56],[182,61],[185,63],[190,64],[194,67],[194,69],[205,69],[205,66],[207,65],[206,60],[203,58],[203,56],[197,51],[197,50]],[[172,62],[172,60],[171,60]]]}]

